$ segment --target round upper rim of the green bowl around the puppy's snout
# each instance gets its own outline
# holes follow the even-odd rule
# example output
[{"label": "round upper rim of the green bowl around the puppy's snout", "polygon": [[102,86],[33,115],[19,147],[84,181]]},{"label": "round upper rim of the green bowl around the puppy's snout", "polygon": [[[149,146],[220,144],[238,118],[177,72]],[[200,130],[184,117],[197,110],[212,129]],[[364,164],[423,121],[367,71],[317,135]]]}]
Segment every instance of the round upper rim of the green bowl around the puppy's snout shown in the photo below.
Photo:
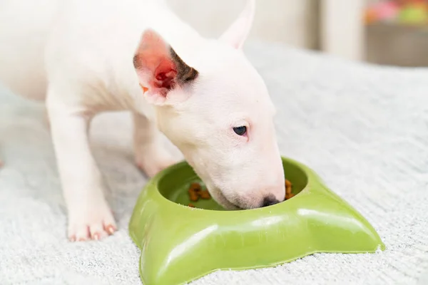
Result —
[{"label": "round upper rim of the green bowl around the puppy's snout", "polygon": [[[174,171],[175,169],[178,169],[180,167],[183,166],[188,166],[191,167],[188,162],[186,162],[185,160],[181,160],[180,162],[175,163],[174,165],[170,165],[169,167],[165,168],[164,170],[162,170],[161,172],[158,172],[158,174],[156,174],[149,182],[148,184],[144,187],[143,191],[151,191],[153,198],[156,199],[160,199],[158,200],[159,202],[163,203],[165,207],[176,207],[177,209],[181,209],[181,210],[187,210],[187,211],[203,211],[203,212],[217,212],[217,213],[228,213],[228,212],[265,212],[266,209],[267,210],[273,210],[273,209],[277,209],[278,207],[282,207],[282,205],[287,202],[287,203],[291,203],[293,201],[296,201],[296,199],[298,200],[300,197],[302,197],[302,195],[305,195],[305,193],[309,192],[311,187],[314,187],[315,184],[320,185],[320,182],[317,182],[317,179],[315,179],[315,172],[313,172],[313,170],[311,170],[309,167],[307,167],[306,165],[297,162],[296,160],[293,160],[289,157],[283,157],[281,156],[281,160],[282,162],[286,161],[289,162],[295,166],[297,166],[298,168],[300,168],[300,170],[302,170],[302,172],[305,173],[306,177],[307,177],[307,183],[305,185],[305,187],[303,187],[303,189],[297,193],[293,199],[284,201],[284,202],[280,202],[277,204],[273,204],[271,206],[267,206],[267,207],[259,207],[259,208],[253,208],[253,209],[235,209],[235,210],[231,210],[231,211],[223,211],[223,210],[218,210],[218,209],[201,209],[201,208],[197,208],[197,207],[188,207],[184,204],[179,204],[176,202],[171,201],[170,199],[168,199],[167,197],[163,196],[162,193],[159,191],[158,188],[158,184],[161,181],[161,179],[167,175],[169,172]],[[154,189],[153,189],[154,188]]]}]

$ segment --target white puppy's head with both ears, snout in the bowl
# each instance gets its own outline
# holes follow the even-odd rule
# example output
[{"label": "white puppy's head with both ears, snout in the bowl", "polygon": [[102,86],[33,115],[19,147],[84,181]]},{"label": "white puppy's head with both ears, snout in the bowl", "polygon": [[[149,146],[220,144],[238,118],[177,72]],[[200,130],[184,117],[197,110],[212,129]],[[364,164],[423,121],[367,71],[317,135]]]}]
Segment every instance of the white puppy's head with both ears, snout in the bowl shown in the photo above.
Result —
[{"label": "white puppy's head with both ears, snout in the bowl", "polygon": [[254,1],[220,39],[183,59],[155,31],[143,33],[134,66],[158,128],[228,209],[285,199],[272,105],[263,79],[245,58]]}]

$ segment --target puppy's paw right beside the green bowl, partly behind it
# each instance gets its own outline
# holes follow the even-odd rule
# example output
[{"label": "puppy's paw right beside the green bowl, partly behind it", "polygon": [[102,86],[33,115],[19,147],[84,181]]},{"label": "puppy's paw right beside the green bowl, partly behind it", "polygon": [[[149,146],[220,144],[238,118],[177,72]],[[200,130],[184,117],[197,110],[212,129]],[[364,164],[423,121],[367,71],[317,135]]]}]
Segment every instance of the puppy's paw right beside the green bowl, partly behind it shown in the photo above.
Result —
[{"label": "puppy's paw right beside the green bowl, partly behind it", "polygon": [[155,176],[161,170],[177,162],[178,160],[161,147],[148,147],[146,150],[136,152],[136,165],[148,177]]}]

